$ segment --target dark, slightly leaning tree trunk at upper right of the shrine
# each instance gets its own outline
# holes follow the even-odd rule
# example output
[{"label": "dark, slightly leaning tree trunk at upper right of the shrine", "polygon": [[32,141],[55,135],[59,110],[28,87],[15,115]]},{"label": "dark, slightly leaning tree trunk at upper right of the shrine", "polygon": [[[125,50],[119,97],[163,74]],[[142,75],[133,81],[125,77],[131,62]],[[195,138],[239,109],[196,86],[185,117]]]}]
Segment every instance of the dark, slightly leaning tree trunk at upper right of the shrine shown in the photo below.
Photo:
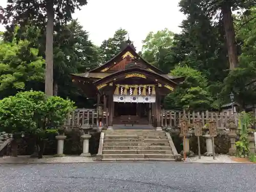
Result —
[{"label": "dark, slightly leaning tree trunk at upper right of the shrine", "polygon": [[226,36],[229,68],[230,70],[233,70],[234,68],[238,67],[238,53],[237,53],[236,36],[234,34],[231,6],[228,4],[224,4],[221,7],[221,11],[223,14],[223,23],[224,23],[225,36]]}]

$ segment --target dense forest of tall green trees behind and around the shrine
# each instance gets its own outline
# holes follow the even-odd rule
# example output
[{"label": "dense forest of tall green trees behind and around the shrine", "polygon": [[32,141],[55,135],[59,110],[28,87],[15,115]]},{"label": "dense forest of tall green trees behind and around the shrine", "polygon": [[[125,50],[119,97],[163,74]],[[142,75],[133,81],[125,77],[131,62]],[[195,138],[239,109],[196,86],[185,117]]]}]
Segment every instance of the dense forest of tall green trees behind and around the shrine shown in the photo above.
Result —
[{"label": "dense forest of tall green trees behind and around the shrine", "polygon": [[[46,0],[21,2],[10,1],[7,8],[0,9],[6,25],[0,34],[0,98],[19,91],[45,91],[46,63],[52,62],[53,94],[70,98],[78,108],[92,108],[95,101],[74,86],[69,74],[90,71],[110,60],[120,52],[128,32],[117,29],[113,37],[96,46],[71,16],[87,1],[73,0],[70,5],[58,5],[58,1],[49,5]],[[231,92],[242,108],[255,103],[256,90],[251,83],[256,77],[253,5],[254,1],[242,0],[181,0],[180,10],[186,15],[181,33],[168,29],[148,33],[139,54],[166,73],[186,76],[165,98],[165,108],[219,110],[231,102]]]}]

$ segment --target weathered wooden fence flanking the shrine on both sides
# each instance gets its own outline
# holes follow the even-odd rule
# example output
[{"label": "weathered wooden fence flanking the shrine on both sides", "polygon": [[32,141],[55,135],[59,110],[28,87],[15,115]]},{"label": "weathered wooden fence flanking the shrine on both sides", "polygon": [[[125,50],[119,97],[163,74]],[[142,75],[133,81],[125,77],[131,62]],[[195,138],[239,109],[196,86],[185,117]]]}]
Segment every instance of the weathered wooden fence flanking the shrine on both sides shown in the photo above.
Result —
[{"label": "weathered wooden fence flanking the shrine on both sides", "polygon": [[[103,115],[99,115],[96,109],[76,109],[71,114],[68,114],[65,125],[70,128],[79,127],[83,124],[90,124],[94,126],[99,125],[100,119],[102,123],[108,125],[106,119],[106,112]],[[191,124],[198,118],[202,119],[203,124],[208,120],[214,120],[217,122],[217,127],[226,127],[228,119],[231,117],[231,111],[228,112],[185,112],[185,111],[172,111],[162,110],[161,111],[161,125],[162,127],[177,127],[180,124],[182,116],[185,114],[186,118]],[[238,114],[234,114],[236,123],[238,123]],[[102,124],[104,125],[104,124]]]}]

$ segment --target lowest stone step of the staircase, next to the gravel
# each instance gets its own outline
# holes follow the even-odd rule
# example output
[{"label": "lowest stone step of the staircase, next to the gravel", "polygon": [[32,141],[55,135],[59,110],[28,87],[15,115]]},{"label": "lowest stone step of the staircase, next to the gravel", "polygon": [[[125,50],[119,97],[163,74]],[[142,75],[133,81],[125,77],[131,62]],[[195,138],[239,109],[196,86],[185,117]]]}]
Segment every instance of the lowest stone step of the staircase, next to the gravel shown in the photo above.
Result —
[{"label": "lowest stone step of the staircase, next to the gravel", "polygon": [[174,159],[174,155],[159,155],[159,154],[102,154],[102,159]]}]

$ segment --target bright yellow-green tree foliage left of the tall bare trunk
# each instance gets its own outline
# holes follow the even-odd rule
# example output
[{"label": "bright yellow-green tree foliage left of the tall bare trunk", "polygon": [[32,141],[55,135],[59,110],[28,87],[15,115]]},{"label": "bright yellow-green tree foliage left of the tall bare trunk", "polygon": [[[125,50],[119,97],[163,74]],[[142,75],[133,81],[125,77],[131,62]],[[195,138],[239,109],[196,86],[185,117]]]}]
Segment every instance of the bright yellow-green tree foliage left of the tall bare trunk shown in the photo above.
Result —
[{"label": "bright yellow-green tree foliage left of the tall bare trunk", "polygon": [[36,89],[38,82],[44,81],[45,60],[37,54],[27,40],[0,42],[0,97]]}]

